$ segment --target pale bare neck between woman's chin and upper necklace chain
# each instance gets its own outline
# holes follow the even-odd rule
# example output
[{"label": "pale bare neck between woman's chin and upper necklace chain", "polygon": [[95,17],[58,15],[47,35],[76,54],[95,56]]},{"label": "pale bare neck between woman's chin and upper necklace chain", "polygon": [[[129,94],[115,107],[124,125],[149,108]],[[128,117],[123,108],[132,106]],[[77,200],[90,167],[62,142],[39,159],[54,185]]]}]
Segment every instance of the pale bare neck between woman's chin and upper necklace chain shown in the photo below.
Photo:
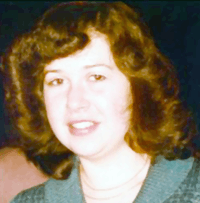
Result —
[{"label": "pale bare neck between woman's chin and upper necklace chain", "polygon": [[150,166],[146,155],[135,153],[127,144],[102,159],[80,157],[80,162],[81,179],[97,189],[117,187],[134,176],[136,181],[142,181]]}]

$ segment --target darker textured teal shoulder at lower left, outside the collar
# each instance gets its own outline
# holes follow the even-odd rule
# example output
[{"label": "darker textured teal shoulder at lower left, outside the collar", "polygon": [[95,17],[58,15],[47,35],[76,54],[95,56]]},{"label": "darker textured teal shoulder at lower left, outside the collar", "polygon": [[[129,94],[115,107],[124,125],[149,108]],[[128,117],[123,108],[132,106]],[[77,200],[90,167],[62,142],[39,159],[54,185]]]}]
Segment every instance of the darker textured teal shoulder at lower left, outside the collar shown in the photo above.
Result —
[{"label": "darker textured teal shoulder at lower left, outside the collar", "polygon": [[44,188],[41,184],[20,192],[11,203],[42,203],[44,202]]}]

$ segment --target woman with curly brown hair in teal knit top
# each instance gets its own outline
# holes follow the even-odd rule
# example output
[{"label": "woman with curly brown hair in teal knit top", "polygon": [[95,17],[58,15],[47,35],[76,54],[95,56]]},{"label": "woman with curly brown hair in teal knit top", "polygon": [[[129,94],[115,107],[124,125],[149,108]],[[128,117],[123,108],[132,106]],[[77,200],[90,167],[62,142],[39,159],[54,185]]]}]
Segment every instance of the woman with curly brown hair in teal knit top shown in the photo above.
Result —
[{"label": "woman with curly brown hair in teal knit top", "polygon": [[4,67],[21,148],[52,177],[12,202],[200,199],[195,124],[173,67],[127,5],[51,8]]}]

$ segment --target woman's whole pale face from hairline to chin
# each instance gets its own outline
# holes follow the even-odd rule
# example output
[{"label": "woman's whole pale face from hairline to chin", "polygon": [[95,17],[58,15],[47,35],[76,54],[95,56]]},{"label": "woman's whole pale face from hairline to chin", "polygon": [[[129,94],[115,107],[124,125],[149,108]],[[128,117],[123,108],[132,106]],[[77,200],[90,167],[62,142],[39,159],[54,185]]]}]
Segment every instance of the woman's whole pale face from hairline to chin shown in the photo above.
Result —
[{"label": "woman's whole pale face from hairline to chin", "polygon": [[44,100],[55,136],[78,156],[98,157],[126,144],[130,83],[103,35],[45,68]]}]

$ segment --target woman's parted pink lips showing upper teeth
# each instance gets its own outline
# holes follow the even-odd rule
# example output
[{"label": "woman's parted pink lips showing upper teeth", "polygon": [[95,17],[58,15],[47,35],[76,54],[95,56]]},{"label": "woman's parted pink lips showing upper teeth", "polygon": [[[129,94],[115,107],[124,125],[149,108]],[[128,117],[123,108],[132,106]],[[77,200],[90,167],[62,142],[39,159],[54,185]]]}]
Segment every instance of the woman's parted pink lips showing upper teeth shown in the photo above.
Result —
[{"label": "woman's parted pink lips showing upper teeth", "polygon": [[68,124],[69,132],[75,136],[88,135],[96,130],[99,123],[94,121],[73,121]]}]

